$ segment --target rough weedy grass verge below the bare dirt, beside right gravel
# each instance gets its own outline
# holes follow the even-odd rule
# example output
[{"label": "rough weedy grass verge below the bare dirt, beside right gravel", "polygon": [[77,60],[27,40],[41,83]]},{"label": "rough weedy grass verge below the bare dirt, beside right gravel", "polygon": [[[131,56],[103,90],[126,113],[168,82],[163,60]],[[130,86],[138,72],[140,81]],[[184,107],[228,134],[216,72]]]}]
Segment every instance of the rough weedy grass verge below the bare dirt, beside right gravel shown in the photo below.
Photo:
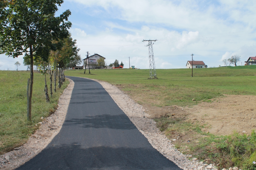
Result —
[{"label": "rough weedy grass verge below the bare dirt, beside right gravel", "polygon": [[[157,127],[173,141],[175,147],[185,155],[193,155],[207,164],[219,163],[219,169],[237,166],[240,169],[256,169],[256,133],[240,135],[213,135],[201,131],[209,125],[190,123],[185,119],[158,118]],[[209,159],[209,160],[208,160]],[[206,160],[208,160],[206,162]]]}]

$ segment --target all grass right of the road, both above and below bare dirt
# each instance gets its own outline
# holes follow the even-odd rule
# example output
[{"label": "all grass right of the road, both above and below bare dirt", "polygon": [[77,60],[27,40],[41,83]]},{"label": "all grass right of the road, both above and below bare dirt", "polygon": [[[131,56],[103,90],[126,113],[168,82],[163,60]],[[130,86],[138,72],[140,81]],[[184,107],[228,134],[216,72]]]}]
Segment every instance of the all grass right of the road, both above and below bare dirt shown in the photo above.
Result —
[{"label": "all grass right of the road, both above and below bare dirt", "polygon": [[[68,70],[66,75],[103,80],[122,89],[142,105],[193,106],[202,101],[222,97],[223,94],[256,95],[256,66],[219,67],[207,69],[157,69],[158,79],[148,79],[149,70],[96,69],[91,74],[84,70]],[[195,101],[192,101],[195,99]],[[238,166],[256,169],[256,133],[250,136],[234,133],[230,136],[201,131],[207,124],[191,123],[186,116],[173,119],[155,118],[157,126],[167,137],[183,134],[198,142],[176,142],[184,154],[193,154],[207,163],[220,163],[218,168]],[[179,136],[179,135],[178,135]],[[199,137],[198,136],[203,136]],[[172,139],[172,138],[170,138]],[[189,150],[189,151],[188,151]]]}]

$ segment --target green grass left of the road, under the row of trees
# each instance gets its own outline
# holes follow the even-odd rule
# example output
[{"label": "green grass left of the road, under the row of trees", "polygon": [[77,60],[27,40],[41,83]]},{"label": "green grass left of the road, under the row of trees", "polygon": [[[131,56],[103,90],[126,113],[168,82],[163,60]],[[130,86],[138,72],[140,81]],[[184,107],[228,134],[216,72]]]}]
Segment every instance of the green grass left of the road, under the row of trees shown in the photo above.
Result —
[{"label": "green grass left of the road, under the row of trees", "polygon": [[[34,73],[32,95],[32,122],[27,121],[27,79],[28,71],[0,71],[0,154],[8,152],[24,144],[29,136],[38,128],[35,124],[40,117],[46,117],[57,108],[59,96],[69,84],[64,82],[50,102],[45,100],[45,77]],[[48,90],[50,89],[47,75]],[[49,91],[48,91],[49,92]]]}]

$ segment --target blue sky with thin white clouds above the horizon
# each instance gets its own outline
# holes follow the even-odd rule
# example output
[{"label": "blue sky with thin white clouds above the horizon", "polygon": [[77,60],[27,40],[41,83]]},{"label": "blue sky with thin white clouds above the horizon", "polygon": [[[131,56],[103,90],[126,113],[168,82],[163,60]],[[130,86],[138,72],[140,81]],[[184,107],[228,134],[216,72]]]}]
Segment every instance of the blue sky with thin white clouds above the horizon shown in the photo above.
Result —
[{"label": "blue sky with thin white clouds above the horizon", "polygon": [[[156,69],[186,68],[193,59],[208,67],[241,56],[244,65],[256,56],[256,1],[220,0],[64,0],[56,16],[69,9],[70,32],[81,58],[97,53],[106,64],[115,59],[148,69],[147,42],[157,40],[153,51]],[[1,70],[15,70],[23,56],[0,55]],[[23,64],[19,70],[26,70]]]}]

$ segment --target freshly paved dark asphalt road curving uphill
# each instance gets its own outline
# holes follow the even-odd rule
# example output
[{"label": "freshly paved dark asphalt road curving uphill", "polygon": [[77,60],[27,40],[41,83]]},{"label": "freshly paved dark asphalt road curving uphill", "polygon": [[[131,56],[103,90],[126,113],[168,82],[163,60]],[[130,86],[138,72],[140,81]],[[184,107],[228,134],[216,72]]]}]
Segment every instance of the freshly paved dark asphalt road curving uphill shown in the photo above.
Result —
[{"label": "freshly paved dark asphalt road curving uphill", "polygon": [[78,77],[60,132],[17,169],[180,169],[154,149],[100,83]]}]

